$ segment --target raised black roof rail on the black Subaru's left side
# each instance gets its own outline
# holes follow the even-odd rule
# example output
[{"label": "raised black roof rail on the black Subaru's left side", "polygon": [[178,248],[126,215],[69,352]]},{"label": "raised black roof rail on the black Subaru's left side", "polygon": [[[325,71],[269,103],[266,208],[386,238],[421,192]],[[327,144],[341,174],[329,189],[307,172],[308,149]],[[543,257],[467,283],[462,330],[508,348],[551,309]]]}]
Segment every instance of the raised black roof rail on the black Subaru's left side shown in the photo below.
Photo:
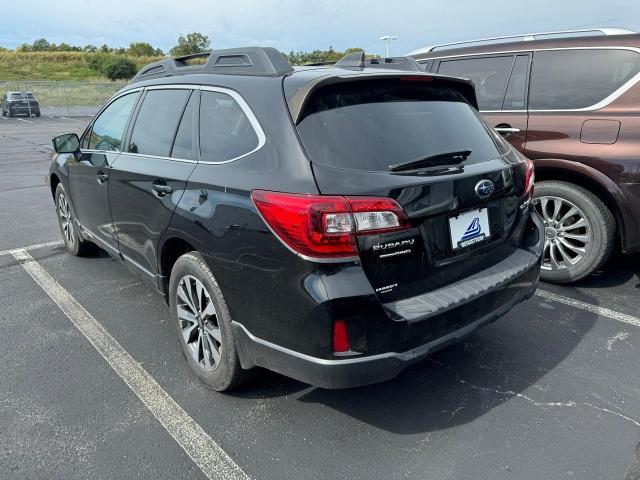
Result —
[{"label": "raised black roof rail on the black Subaru's left side", "polygon": [[[198,58],[206,58],[207,61],[203,64],[189,63]],[[279,77],[292,72],[293,68],[285,56],[275,48],[228,48],[150,63],[140,69],[131,83],[191,73]]]}]

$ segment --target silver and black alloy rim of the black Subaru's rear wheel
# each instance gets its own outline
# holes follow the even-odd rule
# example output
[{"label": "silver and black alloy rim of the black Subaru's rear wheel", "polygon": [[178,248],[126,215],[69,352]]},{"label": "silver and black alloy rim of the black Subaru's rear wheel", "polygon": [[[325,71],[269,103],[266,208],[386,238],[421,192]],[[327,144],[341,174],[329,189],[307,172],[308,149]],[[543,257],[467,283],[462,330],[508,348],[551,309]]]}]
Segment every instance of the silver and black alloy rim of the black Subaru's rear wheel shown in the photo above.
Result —
[{"label": "silver and black alloy rim of the black Subaru's rear wheel", "polygon": [[222,332],[211,295],[200,280],[192,275],[180,279],[176,309],[191,357],[205,370],[215,370],[220,365]]}]

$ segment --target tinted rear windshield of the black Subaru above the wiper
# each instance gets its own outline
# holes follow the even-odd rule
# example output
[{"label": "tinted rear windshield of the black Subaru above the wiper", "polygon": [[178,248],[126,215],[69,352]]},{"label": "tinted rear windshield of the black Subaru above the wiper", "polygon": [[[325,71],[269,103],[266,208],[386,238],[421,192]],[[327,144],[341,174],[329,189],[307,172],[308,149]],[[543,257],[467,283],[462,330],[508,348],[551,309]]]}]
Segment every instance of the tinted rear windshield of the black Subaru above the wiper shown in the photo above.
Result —
[{"label": "tinted rear windshield of the black Subaru above the wiper", "polygon": [[455,89],[426,82],[367,80],[319,89],[298,132],[316,163],[366,171],[438,153],[471,150],[475,163],[503,154],[476,110]]}]

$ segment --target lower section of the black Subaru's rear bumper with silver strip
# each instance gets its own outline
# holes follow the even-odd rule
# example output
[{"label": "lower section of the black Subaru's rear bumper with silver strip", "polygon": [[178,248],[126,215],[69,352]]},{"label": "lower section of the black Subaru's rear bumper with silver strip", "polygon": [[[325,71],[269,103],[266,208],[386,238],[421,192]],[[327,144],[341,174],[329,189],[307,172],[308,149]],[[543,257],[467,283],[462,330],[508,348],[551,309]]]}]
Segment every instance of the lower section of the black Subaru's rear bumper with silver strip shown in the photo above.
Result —
[{"label": "lower section of the black Subaru's rear bumper with silver strip", "polygon": [[[233,322],[240,357],[245,366],[259,365],[283,375],[323,388],[350,388],[390,380],[427,355],[459,342],[480,327],[530,298],[538,285],[539,263],[487,295],[499,306],[473,322],[405,352],[388,352],[348,359],[323,359],[305,355],[262,340]],[[443,314],[444,315],[444,314]],[[429,320],[427,320],[429,321]]]}]

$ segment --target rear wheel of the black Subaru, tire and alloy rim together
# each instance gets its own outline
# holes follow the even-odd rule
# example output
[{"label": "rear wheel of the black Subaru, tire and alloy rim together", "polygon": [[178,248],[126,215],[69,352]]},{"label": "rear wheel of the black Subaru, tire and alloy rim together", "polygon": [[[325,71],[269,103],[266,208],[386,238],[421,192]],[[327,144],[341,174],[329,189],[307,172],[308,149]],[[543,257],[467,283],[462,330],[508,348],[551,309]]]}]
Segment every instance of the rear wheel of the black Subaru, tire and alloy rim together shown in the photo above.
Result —
[{"label": "rear wheel of the black Subaru, tire and alloy rim together", "polygon": [[[201,287],[202,302],[198,303]],[[244,382],[248,372],[240,365],[229,309],[199,253],[186,253],[174,264],[169,304],[178,343],[191,371],[219,392]]]}]

